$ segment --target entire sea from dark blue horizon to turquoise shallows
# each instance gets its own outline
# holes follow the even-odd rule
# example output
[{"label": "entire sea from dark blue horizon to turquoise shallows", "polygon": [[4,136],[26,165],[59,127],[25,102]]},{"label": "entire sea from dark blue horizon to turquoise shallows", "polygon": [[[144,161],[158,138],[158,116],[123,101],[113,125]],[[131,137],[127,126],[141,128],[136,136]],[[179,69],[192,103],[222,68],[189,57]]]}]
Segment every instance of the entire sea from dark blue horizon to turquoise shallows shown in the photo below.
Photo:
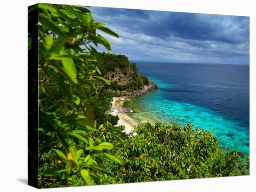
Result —
[{"label": "entire sea from dark blue horizon to turquoise shallows", "polygon": [[223,149],[249,155],[249,65],[135,62],[159,89],[131,99],[139,123],[209,129]]}]

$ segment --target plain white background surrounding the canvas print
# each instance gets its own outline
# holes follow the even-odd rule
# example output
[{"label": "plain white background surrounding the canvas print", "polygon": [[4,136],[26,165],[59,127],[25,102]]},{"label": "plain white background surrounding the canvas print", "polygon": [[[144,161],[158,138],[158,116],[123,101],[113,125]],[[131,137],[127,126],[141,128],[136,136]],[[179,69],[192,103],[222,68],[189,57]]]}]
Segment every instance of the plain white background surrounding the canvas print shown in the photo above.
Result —
[{"label": "plain white background surrounding the canvas print", "polygon": [[[40,2],[250,16],[250,176],[150,183],[67,187],[41,191],[255,191],[254,0],[42,0]],[[0,4],[0,191],[35,191],[27,186],[27,6],[36,0]],[[235,103],[234,103],[235,104]],[[254,180],[254,181],[253,181]]]}]

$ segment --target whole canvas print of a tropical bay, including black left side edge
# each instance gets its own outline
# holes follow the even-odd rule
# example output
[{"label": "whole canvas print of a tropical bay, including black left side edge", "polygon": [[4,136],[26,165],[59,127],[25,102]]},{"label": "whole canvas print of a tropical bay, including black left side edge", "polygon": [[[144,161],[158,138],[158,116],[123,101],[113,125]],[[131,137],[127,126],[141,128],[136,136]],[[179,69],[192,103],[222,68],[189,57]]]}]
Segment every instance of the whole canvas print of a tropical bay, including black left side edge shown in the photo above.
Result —
[{"label": "whole canvas print of a tropical bay, including black left side edge", "polygon": [[249,175],[249,17],[28,7],[28,184]]}]

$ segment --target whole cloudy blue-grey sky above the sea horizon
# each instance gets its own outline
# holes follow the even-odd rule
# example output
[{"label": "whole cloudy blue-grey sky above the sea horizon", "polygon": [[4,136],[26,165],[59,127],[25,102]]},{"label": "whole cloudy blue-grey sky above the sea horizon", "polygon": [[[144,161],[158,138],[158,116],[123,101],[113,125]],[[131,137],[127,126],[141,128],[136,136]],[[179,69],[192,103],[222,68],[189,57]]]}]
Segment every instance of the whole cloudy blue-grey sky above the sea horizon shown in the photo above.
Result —
[{"label": "whole cloudy blue-grey sky above the sea horizon", "polygon": [[[249,17],[91,7],[112,51],[134,61],[249,64]],[[100,47],[100,51],[105,51]]]}]

